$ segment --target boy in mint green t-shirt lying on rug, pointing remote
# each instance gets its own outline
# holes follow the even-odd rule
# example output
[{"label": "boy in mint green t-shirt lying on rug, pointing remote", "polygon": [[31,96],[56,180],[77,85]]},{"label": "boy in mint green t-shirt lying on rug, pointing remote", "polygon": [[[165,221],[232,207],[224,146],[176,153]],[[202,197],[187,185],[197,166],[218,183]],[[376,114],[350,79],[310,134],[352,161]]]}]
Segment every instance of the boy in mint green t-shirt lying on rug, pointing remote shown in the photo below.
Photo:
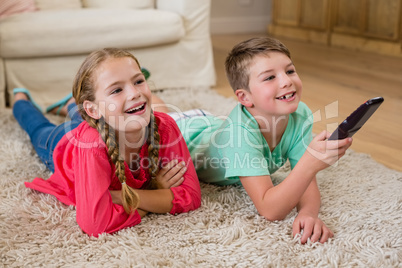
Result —
[{"label": "boy in mint green t-shirt lying on rug, pointing remote", "polygon": [[[289,50],[278,40],[253,38],[236,45],[225,62],[239,104],[227,119],[194,110],[173,115],[203,182],[241,182],[258,212],[270,221],[298,215],[293,235],[326,242],[332,231],[318,218],[316,174],[334,164],[352,139],[312,139],[312,113],[300,101],[302,82]],[[289,160],[292,171],[274,186],[270,175]]]}]

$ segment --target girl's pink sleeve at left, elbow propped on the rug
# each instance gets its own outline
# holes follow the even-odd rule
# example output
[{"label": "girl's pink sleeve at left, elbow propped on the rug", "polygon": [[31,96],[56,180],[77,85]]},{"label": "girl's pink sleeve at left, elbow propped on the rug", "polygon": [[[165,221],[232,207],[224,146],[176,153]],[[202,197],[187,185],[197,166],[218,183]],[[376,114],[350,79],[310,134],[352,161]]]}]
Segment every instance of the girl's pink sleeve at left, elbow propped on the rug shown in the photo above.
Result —
[{"label": "girl's pink sleeve at left, elbow propped on the rug", "polygon": [[97,237],[139,224],[141,217],[137,211],[127,214],[123,206],[112,202],[109,192],[112,167],[107,155],[93,152],[96,150],[78,149],[74,161],[78,225],[85,233]]}]

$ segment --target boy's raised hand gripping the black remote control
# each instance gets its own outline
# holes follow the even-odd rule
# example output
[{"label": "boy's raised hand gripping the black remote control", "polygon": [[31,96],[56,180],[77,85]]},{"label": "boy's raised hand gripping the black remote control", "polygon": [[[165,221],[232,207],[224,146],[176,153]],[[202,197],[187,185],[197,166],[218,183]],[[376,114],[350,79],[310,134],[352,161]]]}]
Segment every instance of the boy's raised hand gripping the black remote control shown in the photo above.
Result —
[{"label": "boy's raised hand gripping the black remote control", "polygon": [[330,136],[331,134],[324,130],[311,141],[306,150],[310,156],[313,156],[312,159],[316,160],[313,166],[317,172],[335,164],[352,145],[352,138],[329,141],[327,139]]}]

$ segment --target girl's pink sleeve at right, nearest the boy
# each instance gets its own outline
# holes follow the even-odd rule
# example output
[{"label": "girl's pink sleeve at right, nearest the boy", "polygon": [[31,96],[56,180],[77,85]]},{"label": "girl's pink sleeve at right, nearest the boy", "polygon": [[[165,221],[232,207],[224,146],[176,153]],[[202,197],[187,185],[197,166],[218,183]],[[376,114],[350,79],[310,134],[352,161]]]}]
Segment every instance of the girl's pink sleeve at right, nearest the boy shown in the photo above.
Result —
[{"label": "girl's pink sleeve at right, nearest the boy", "polygon": [[[169,117],[170,118],[170,117]],[[172,118],[170,118],[173,121]],[[170,122],[169,122],[170,123]],[[188,151],[187,145],[176,122],[168,124],[169,130],[163,130],[169,133],[167,140],[164,141],[163,148],[160,150],[162,159],[178,159],[187,164],[187,171],[184,174],[184,181],[178,187],[171,188],[174,199],[171,214],[188,212],[201,206],[201,189],[195,172],[194,164]],[[161,130],[162,132],[162,130]]]}]

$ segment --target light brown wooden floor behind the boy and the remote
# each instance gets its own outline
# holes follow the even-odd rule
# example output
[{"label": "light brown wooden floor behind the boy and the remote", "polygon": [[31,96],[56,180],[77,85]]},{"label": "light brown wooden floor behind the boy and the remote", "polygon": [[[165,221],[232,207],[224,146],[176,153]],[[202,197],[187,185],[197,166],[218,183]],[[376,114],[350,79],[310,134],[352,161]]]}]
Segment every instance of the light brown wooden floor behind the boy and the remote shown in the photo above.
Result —
[{"label": "light brown wooden floor behind the boy and the remote", "polygon": [[[236,43],[253,36],[258,34],[212,36],[218,93],[234,97],[224,61]],[[332,132],[364,101],[382,96],[384,103],[353,137],[351,148],[402,171],[402,58],[279,39],[303,82],[302,101],[314,113],[314,133]]]}]

